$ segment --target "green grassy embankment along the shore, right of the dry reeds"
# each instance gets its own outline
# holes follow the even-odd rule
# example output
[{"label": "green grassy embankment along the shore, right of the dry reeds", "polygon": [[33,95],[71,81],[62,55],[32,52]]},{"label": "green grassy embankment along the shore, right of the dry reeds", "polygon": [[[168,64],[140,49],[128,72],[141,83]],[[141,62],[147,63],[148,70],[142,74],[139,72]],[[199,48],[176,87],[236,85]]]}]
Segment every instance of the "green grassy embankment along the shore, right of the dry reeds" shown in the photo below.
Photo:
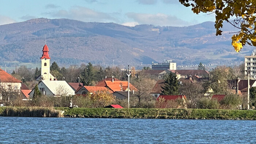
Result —
[{"label": "green grassy embankment along the shore, right of the dry reeds", "polygon": [[56,108],[67,117],[256,120],[255,110]]}]

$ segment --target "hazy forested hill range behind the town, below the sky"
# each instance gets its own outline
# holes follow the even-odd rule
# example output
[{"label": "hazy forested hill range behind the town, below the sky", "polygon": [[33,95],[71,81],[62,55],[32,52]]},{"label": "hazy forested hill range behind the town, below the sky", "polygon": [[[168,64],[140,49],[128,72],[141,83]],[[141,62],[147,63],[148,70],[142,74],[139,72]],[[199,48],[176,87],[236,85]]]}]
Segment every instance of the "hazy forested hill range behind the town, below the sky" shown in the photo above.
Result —
[{"label": "hazy forested hill range behind the town, below the sky", "polygon": [[253,47],[236,53],[230,32],[215,36],[214,22],[188,27],[81,22],[70,19],[31,19],[0,26],[0,65],[8,61],[40,62],[46,42],[52,62],[71,65],[91,62],[102,66],[140,65],[172,59],[177,65],[236,63]]}]

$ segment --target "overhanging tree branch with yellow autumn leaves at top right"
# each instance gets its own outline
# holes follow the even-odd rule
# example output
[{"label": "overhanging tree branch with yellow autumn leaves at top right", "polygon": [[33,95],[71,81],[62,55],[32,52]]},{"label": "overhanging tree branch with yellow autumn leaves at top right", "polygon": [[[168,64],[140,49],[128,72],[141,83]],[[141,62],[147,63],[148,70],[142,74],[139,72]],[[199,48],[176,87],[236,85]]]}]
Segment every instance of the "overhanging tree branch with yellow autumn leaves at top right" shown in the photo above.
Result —
[{"label": "overhanging tree branch with yellow autumn leaves at top right", "polygon": [[[216,35],[221,35],[223,22],[240,29],[234,34],[232,46],[239,52],[243,46],[256,46],[256,0],[179,0],[185,7],[192,7],[196,14],[200,12],[215,13]],[[233,16],[236,18],[233,19]]]}]

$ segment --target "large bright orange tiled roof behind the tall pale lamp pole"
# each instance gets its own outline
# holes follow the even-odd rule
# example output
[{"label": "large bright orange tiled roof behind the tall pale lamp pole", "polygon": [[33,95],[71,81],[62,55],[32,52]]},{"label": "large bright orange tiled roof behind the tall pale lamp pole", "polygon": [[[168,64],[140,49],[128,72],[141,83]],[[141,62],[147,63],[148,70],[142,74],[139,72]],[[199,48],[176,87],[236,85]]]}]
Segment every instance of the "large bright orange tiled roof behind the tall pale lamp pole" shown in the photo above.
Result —
[{"label": "large bright orange tiled roof behind the tall pale lamp pole", "polygon": [[[125,90],[128,87],[128,82],[127,81],[105,81],[105,83],[107,84],[107,87],[110,88],[110,90],[112,90],[113,92],[115,91],[121,91],[121,84],[123,86],[122,90]],[[135,90],[137,91],[137,88],[135,88],[131,83],[130,85],[130,90]]]}]

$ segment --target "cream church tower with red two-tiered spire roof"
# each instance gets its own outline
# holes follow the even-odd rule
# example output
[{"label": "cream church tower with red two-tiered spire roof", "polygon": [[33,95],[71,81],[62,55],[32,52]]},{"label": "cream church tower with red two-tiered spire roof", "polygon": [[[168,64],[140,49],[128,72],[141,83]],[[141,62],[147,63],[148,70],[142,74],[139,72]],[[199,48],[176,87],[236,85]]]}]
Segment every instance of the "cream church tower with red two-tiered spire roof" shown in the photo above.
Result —
[{"label": "cream church tower with red two-tiered spire roof", "polygon": [[43,48],[43,55],[41,57],[41,79],[42,80],[55,80],[55,77],[53,77],[50,74],[50,57],[49,57],[49,48],[45,44]]}]

